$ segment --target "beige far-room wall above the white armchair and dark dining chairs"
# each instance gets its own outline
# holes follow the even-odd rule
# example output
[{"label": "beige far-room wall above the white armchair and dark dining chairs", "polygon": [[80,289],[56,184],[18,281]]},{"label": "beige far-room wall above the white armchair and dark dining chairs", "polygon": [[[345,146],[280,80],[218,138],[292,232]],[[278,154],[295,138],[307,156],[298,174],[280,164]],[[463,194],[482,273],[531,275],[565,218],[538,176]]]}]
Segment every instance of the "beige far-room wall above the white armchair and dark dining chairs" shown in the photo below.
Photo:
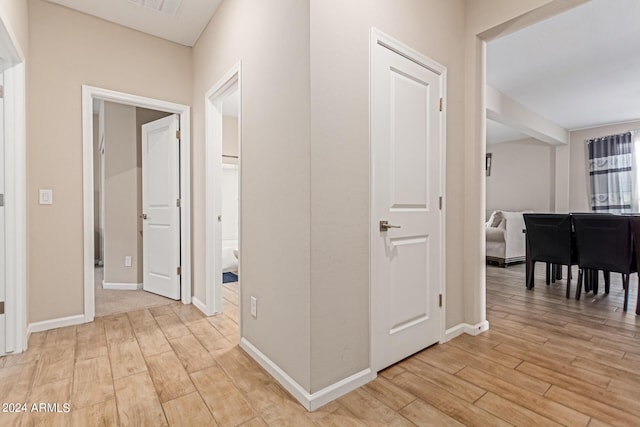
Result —
[{"label": "beige far-room wall above the white armchair and dark dining chairs", "polygon": [[491,175],[486,177],[487,212],[496,209],[553,212],[555,149],[535,139],[491,144]]}]

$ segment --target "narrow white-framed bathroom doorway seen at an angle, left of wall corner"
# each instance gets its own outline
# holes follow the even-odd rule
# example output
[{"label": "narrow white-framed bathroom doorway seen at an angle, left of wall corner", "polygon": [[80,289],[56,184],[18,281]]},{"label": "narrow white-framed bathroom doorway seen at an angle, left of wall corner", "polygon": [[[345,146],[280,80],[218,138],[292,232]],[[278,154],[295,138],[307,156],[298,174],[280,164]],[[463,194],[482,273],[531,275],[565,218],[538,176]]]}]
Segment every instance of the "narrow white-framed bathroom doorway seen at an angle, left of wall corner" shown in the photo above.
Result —
[{"label": "narrow white-framed bathroom doorway seen at an angle, left of wall corner", "polygon": [[[241,331],[242,288],[223,287],[223,272],[242,278],[242,85],[236,64],[206,94],[206,288],[194,304],[206,315],[227,313]],[[229,270],[229,271],[225,271]],[[231,291],[231,295],[230,295]],[[225,298],[226,295],[230,295]],[[235,299],[236,305],[231,303]]]}]

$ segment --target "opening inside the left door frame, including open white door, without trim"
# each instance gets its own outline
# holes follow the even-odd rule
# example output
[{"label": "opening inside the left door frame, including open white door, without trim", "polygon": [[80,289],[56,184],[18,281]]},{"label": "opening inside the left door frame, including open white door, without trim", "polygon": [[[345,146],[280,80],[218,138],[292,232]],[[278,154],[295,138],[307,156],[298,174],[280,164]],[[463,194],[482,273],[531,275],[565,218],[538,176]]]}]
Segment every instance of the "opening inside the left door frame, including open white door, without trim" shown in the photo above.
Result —
[{"label": "opening inside the left door frame, including open white door, without trim", "polygon": [[94,100],[97,316],[179,299],[177,121],[168,112]]}]

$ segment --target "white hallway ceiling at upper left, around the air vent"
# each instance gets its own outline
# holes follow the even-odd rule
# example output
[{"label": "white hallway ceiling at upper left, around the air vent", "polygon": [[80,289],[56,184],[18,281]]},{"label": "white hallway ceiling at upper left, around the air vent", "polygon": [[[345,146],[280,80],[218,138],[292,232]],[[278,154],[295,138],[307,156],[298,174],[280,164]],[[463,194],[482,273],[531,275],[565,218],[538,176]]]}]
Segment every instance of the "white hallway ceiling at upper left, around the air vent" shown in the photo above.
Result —
[{"label": "white hallway ceiling at upper left, around the air vent", "polygon": [[[182,0],[176,16],[142,6],[141,0],[48,0],[143,33],[193,46],[222,0]],[[167,0],[147,0],[160,6]]]}]

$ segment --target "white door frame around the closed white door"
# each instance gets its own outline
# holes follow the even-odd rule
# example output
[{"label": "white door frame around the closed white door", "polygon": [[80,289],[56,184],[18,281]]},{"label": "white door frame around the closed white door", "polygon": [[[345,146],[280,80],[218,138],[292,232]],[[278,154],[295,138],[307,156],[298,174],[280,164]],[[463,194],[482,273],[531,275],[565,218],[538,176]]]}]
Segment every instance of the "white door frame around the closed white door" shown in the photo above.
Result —
[{"label": "white door frame around the closed white door", "polygon": [[[374,78],[373,73],[375,70],[376,64],[376,48],[377,46],[383,46],[387,49],[392,50],[393,52],[435,72],[440,76],[440,87],[441,87],[441,97],[446,101],[446,91],[447,91],[447,68],[422,53],[416,51],[415,49],[405,45],[404,43],[394,39],[393,37],[383,33],[375,27],[371,28],[370,35],[370,48],[369,48],[369,151],[370,151],[370,170],[369,170],[369,366],[371,366],[372,370],[377,371],[377,366],[379,366],[379,347],[380,344],[376,338],[375,331],[376,328],[379,327],[379,318],[374,313],[374,309],[376,307],[376,301],[378,300],[378,287],[374,282],[374,274],[375,274],[375,265],[377,260],[375,259],[375,254],[377,253],[375,245],[378,241],[377,233],[378,233],[378,221],[379,218],[375,213],[376,206],[376,189],[373,187],[373,174],[375,173],[373,165],[375,164],[375,152],[373,150],[373,103],[376,101],[373,98],[374,94]],[[446,106],[446,102],[444,102]],[[441,216],[441,239],[440,239],[440,253],[442,254],[442,258],[440,261],[440,269],[441,269],[441,283],[440,283],[440,291],[442,294],[443,301],[446,301],[445,292],[446,292],[446,198],[445,196],[445,177],[446,177],[446,108],[443,107],[443,112],[440,115],[440,195],[442,196],[442,209],[440,210]],[[445,337],[445,307],[446,305],[442,305],[442,309],[440,310],[440,326],[441,330],[439,331],[440,339],[439,342],[443,342]]]}]

